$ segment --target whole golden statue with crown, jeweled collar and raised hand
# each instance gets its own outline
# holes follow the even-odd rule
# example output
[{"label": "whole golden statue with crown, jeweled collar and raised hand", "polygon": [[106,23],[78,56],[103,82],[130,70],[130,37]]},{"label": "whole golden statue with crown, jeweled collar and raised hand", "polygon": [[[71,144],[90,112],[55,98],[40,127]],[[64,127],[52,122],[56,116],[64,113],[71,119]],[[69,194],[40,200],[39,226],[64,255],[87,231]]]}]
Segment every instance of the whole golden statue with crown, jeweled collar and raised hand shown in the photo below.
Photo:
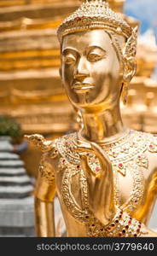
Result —
[{"label": "whole golden statue with crown, jeweled collar and raised hand", "polygon": [[123,126],[120,96],[136,73],[137,28],[106,1],[82,1],[58,29],[61,79],[82,122],[46,141],[35,192],[38,236],[55,236],[55,193],[67,236],[157,236],[147,227],[157,193],[157,137]]}]

